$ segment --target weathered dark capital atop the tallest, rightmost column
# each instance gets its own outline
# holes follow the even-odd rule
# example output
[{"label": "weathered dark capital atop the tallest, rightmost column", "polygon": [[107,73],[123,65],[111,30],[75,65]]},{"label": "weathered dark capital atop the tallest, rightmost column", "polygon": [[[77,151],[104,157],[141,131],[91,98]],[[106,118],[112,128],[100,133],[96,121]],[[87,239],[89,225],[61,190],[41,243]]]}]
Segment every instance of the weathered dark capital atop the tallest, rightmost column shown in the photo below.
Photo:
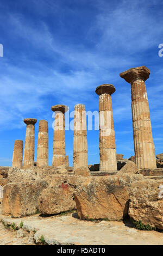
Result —
[{"label": "weathered dark capital atop the tallest, rightmost column", "polygon": [[149,78],[150,70],[146,66],[138,66],[137,68],[128,69],[120,74],[128,83],[133,83],[136,80],[146,81]]}]

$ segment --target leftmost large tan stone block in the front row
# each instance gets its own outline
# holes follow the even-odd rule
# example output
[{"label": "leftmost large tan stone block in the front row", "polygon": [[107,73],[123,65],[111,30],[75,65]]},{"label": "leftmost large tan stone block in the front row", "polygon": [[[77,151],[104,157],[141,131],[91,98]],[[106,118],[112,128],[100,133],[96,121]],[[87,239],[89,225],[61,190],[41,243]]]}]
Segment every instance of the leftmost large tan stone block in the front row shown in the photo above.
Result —
[{"label": "leftmost large tan stone block in the front row", "polygon": [[38,199],[48,183],[44,180],[33,182],[18,182],[3,187],[2,214],[13,217],[23,217],[35,214],[38,209]]}]

